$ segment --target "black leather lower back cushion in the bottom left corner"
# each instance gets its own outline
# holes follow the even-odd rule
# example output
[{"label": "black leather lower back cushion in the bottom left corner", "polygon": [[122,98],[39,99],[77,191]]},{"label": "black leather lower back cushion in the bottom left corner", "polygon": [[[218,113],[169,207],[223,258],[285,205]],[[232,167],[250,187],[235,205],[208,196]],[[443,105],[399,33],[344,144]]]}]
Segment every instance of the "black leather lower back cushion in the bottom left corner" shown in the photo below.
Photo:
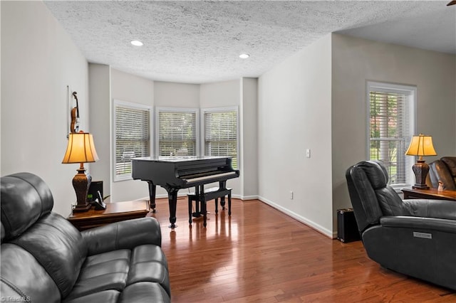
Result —
[{"label": "black leather lower back cushion in the bottom left corner", "polygon": [[11,243],[0,250],[1,299],[11,302],[61,302],[57,285],[30,252]]}]

